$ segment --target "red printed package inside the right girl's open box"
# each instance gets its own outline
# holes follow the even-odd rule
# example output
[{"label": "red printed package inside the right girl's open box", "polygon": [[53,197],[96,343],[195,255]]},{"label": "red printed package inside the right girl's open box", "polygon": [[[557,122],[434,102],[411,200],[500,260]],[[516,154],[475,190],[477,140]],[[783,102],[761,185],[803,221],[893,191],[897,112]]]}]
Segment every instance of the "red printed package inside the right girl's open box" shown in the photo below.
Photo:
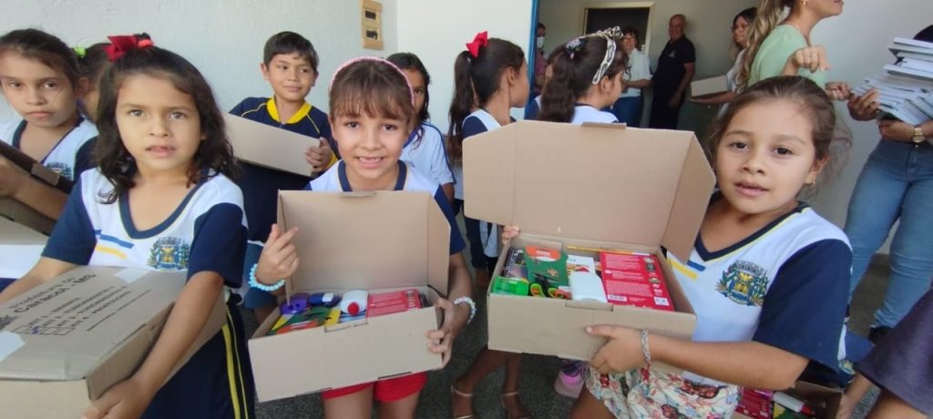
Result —
[{"label": "red printed package inside the right girl's open box", "polygon": [[610,303],[674,311],[657,258],[608,252],[599,257]]}]

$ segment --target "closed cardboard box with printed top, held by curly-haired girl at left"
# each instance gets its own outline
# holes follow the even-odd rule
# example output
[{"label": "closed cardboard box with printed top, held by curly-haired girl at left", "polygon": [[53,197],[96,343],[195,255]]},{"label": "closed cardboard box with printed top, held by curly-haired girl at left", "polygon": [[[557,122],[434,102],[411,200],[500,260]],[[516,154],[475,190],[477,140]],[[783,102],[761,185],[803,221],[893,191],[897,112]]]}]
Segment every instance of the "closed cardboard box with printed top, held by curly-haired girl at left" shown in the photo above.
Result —
[{"label": "closed cardboard box with printed top, held by curly-haired girl at left", "polygon": [[[0,305],[0,417],[80,417],[159,338],[184,272],[78,267]],[[224,294],[175,370],[226,323]]]}]

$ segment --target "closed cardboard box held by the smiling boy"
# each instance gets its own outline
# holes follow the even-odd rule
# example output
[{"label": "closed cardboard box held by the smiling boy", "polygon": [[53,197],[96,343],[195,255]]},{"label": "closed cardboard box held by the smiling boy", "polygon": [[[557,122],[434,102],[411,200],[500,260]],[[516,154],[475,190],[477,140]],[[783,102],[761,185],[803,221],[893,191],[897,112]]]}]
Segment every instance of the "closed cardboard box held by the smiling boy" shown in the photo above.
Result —
[{"label": "closed cardboard box held by the smiling boy", "polygon": [[304,153],[308,147],[319,146],[319,139],[235,115],[225,114],[224,119],[237,159],[283,172],[311,175],[313,167],[305,161]]}]

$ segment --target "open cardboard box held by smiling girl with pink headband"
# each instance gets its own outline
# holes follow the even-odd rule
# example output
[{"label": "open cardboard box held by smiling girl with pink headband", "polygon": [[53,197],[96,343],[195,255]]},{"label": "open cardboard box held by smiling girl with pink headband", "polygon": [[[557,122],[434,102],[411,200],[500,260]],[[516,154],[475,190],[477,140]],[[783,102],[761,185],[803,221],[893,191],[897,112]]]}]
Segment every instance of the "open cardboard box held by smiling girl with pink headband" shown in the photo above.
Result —
[{"label": "open cardboard box held by smiling girl with pink headband", "polygon": [[[433,304],[447,293],[450,224],[427,193],[280,191],[279,225],[299,228],[288,295],[416,288]],[[442,367],[427,349],[433,306],[267,336],[278,317],[249,340],[260,401]]]}]

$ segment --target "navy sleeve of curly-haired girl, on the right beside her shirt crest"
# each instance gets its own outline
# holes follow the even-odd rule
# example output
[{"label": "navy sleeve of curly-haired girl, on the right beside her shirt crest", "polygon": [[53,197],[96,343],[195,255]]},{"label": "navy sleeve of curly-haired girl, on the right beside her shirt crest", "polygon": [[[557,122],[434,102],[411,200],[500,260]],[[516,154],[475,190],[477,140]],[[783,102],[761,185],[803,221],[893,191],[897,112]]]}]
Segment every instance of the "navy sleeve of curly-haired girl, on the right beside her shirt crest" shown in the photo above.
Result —
[{"label": "navy sleeve of curly-haired girl, on the right beside her shirt crest", "polygon": [[188,278],[198,272],[217,272],[226,286],[238,288],[243,282],[245,251],[243,209],[233,203],[218,203],[194,222]]}]

